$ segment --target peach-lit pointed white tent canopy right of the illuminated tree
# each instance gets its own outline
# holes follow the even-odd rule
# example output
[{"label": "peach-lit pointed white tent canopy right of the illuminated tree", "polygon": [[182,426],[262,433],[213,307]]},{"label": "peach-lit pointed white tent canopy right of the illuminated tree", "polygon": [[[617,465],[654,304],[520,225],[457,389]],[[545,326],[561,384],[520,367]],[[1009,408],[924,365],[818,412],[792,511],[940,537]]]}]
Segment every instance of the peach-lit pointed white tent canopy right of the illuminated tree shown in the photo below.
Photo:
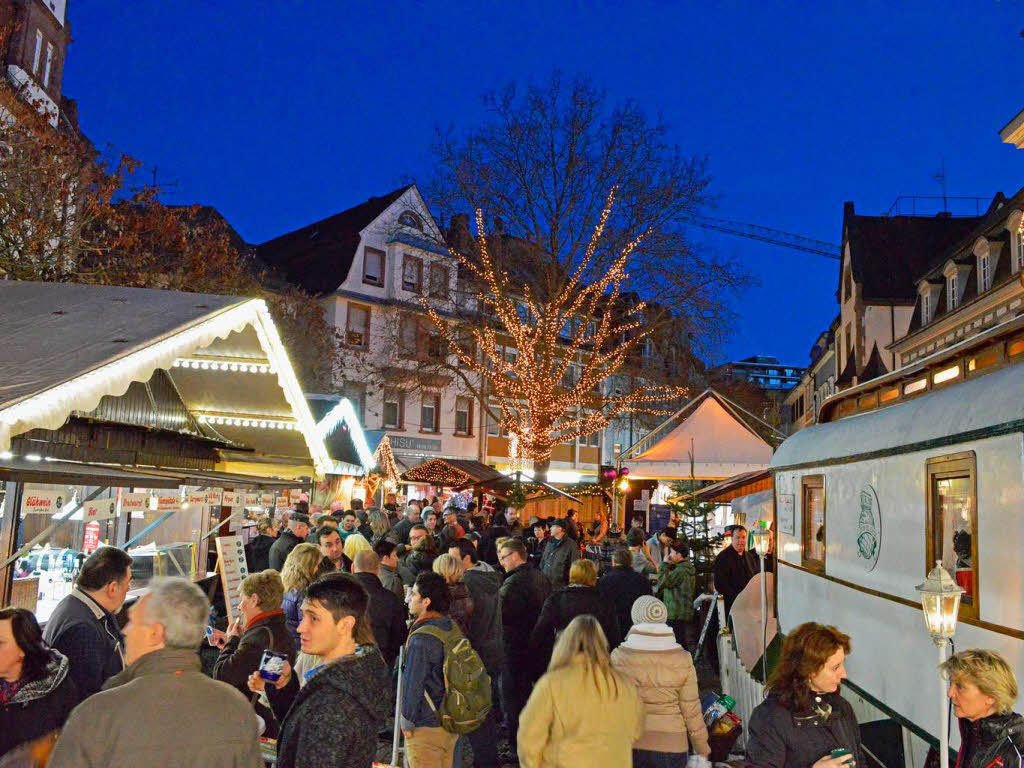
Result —
[{"label": "peach-lit pointed white tent canopy right of the illuminated tree", "polygon": [[766,468],[772,455],[771,445],[714,390],[687,403],[645,439],[637,445],[640,452],[623,454],[631,477],[688,478],[691,453],[695,478],[731,477]]}]

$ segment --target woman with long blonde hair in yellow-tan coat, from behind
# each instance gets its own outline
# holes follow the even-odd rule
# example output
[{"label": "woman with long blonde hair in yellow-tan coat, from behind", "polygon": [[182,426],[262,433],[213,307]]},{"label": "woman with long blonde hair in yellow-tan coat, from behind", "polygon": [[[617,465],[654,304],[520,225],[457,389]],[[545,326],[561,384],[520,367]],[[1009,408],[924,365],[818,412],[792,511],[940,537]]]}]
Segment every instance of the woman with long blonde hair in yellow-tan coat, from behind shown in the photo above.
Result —
[{"label": "woman with long blonde hair in yellow-tan coat, from behind", "polygon": [[632,765],[643,722],[636,685],[611,667],[601,625],[592,615],[577,616],[519,716],[519,765]]}]

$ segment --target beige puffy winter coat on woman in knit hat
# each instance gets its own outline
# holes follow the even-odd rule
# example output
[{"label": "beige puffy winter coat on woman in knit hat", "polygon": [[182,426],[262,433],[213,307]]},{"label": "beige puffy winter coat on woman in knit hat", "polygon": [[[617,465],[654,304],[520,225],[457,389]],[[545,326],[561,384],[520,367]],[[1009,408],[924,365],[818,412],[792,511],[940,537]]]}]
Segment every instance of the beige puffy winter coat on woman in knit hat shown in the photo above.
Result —
[{"label": "beige puffy winter coat on woman in knit hat", "polygon": [[644,731],[633,749],[711,753],[693,659],[668,625],[633,625],[626,642],[611,651],[611,666],[636,683],[643,701]]}]

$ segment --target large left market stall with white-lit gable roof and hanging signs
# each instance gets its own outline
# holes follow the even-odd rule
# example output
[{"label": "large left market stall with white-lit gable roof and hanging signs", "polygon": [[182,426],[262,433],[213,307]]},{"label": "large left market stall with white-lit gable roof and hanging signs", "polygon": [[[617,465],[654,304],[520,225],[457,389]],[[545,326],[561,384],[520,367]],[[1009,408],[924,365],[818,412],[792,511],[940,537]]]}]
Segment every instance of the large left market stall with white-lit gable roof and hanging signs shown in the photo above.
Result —
[{"label": "large left market stall with white-lit gable roof and hanging signs", "polygon": [[0,604],[101,543],[205,575],[211,536],[335,466],[260,300],[3,282],[0,327]]}]

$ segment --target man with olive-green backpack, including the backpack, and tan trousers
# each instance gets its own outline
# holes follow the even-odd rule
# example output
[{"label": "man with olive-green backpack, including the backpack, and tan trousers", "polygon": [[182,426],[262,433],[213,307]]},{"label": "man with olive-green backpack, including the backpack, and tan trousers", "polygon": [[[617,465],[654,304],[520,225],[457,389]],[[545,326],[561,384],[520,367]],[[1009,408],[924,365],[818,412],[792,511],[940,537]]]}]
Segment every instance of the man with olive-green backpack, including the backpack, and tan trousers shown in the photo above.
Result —
[{"label": "man with olive-green backpack, including the backpack, and tan trousers", "polygon": [[452,768],[460,734],[490,710],[490,678],[479,655],[449,618],[449,588],[432,571],[409,594],[415,620],[401,671],[401,729],[410,768]]}]

